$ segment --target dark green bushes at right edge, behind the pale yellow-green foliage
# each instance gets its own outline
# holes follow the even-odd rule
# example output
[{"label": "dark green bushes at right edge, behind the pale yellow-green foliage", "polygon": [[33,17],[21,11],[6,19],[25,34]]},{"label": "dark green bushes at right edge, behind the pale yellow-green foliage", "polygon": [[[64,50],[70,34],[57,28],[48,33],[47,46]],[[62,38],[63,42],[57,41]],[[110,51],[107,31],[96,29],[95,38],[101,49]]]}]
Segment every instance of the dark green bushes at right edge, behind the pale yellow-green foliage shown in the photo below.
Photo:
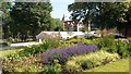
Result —
[{"label": "dark green bushes at right edge, behind the pale yellow-green foliage", "polygon": [[131,55],[131,44],[127,41],[115,41],[114,36],[105,36],[98,39],[97,46],[102,50],[108,52],[116,52],[122,58]]}]

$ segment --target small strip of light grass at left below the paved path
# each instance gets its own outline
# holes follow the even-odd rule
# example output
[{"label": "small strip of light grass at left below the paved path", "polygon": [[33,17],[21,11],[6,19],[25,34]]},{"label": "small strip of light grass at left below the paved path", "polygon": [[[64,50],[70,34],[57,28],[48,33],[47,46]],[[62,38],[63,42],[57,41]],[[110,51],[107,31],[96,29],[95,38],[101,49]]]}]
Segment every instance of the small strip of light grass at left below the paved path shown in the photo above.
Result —
[{"label": "small strip of light grass at left below the paved path", "polygon": [[23,49],[21,48],[21,49],[1,50],[0,51],[0,58],[3,58],[3,57],[5,57],[8,54],[11,54],[11,53],[17,53],[21,50],[23,50]]}]

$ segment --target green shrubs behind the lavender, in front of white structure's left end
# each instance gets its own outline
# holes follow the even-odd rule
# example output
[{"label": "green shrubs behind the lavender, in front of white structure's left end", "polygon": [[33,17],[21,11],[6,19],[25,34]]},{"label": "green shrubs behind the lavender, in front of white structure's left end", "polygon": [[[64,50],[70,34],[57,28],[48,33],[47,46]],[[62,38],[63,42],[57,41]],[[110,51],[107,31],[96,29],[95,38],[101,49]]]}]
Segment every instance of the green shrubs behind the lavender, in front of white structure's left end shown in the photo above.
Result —
[{"label": "green shrubs behind the lavender, in front of white structure's left end", "polygon": [[31,46],[31,47],[24,47],[24,50],[19,52],[20,55],[35,55],[37,53],[43,53],[47,50],[51,50],[55,48],[64,48],[64,47],[70,47],[73,46],[73,44],[70,42],[62,42],[57,38],[47,38],[43,41],[43,44],[37,45],[37,46]]}]

